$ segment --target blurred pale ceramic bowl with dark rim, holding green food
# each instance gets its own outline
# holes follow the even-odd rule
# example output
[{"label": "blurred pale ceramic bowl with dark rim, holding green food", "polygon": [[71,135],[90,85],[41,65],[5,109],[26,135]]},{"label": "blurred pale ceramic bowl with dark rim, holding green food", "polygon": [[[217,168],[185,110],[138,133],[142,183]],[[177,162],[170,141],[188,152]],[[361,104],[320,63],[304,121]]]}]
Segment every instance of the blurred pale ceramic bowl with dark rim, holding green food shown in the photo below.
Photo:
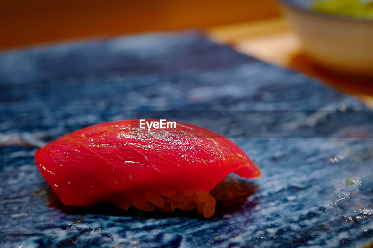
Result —
[{"label": "blurred pale ceramic bowl with dark rim, holding green food", "polygon": [[314,12],[311,1],[280,1],[305,53],[329,69],[373,75],[373,21]]}]

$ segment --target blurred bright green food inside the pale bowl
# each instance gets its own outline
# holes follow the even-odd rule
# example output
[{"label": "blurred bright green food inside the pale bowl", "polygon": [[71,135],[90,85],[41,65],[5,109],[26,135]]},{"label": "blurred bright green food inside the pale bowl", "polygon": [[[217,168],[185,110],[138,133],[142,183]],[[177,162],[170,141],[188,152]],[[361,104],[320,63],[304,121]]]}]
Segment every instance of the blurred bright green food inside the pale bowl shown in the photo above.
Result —
[{"label": "blurred bright green food inside the pale bowl", "polygon": [[312,7],[331,15],[373,20],[373,0],[317,0]]}]

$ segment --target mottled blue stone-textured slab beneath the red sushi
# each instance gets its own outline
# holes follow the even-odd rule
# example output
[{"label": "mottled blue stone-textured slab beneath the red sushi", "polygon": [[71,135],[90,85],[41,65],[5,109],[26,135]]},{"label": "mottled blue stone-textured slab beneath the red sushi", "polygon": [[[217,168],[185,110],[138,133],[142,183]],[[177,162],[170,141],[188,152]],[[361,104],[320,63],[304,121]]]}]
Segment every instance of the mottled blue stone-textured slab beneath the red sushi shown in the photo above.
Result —
[{"label": "mottled blue stone-textured slab beneath the red sushi", "polygon": [[[270,122],[277,133],[291,125],[301,134],[298,124],[304,120],[297,117],[287,125],[269,120],[271,115],[206,122],[234,138],[263,174],[243,182],[254,194],[232,204],[218,201],[211,219],[194,212],[66,207],[50,192],[34,165],[35,149],[21,140],[40,145],[88,125],[128,119],[131,110],[338,112],[339,102],[364,109],[313,79],[200,35],[155,34],[2,53],[0,101],[1,247],[353,247],[373,238],[373,142],[362,139],[372,137],[369,111],[341,123],[313,115],[309,138],[264,138],[267,130],[242,138],[239,131]],[[185,113],[184,121],[201,121],[195,112]],[[321,137],[316,127],[354,139]]]}]

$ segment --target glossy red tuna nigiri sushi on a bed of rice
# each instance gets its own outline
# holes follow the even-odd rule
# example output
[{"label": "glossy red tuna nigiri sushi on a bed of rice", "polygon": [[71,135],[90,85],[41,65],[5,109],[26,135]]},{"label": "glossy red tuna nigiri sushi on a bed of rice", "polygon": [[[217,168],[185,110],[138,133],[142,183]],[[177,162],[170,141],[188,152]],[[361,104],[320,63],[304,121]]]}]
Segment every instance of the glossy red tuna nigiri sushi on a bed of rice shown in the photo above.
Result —
[{"label": "glossy red tuna nigiri sushi on a bed of rice", "polygon": [[37,150],[35,161],[65,205],[197,209],[206,218],[215,212],[210,190],[227,175],[260,176],[231,140],[179,122],[176,128],[151,130],[140,128],[138,120],[93,125]]}]

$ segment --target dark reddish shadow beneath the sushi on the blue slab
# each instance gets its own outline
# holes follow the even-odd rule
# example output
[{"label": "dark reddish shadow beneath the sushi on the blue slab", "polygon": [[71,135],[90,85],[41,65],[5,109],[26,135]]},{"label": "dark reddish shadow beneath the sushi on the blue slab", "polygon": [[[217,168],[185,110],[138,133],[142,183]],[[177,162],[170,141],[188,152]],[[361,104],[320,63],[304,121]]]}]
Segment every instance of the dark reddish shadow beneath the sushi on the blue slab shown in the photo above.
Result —
[{"label": "dark reddish shadow beneath the sushi on the blue slab", "polygon": [[[57,194],[54,193],[51,188],[48,189],[48,198],[50,200],[48,207],[56,208],[63,213],[72,215],[99,214],[108,216],[133,216],[144,218],[186,217],[210,220],[241,209],[242,206],[247,202],[247,198],[257,190],[258,187],[256,184],[235,176],[229,176],[225,179],[225,181],[216,185],[216,187],[210,191],[210,193],[216,199],[216,209],[215,214],[209,219],[204,218],[202,214],[197,214],[197,210],[182,211],[176,209],[173,213],[166,213],[159,210],[154,212],[143,212],[135,209],[134,207],[130,207],[128,211],[123,211],[113,204],[100,204],[94,207],[66,206],[59,200]],[[251,209],[256,205],[256,202],[250,202],[248,205]]]}]

